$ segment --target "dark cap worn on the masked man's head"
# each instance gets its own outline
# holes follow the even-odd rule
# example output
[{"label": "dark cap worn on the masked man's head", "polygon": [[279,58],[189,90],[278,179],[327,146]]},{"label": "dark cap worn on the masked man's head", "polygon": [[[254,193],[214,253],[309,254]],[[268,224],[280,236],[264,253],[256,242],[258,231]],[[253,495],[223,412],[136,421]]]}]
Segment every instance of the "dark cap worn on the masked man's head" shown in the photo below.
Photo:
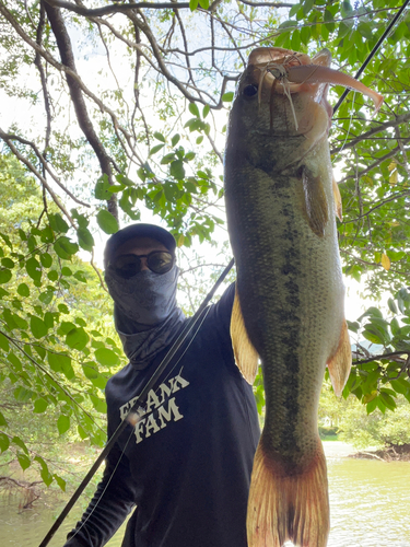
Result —
[{"label": "dark cap worn on the masked man's head", "polygon": [[171,253],[175,253],[175,237],[164,228],[156,226],[155,224],[131,224],[122,230],[118,230],[107,241],[104,251],[104,268],[108,266],[115,251],[126,243],[126,241],[133,240],[134,237],[151,237],[165,245]]}]

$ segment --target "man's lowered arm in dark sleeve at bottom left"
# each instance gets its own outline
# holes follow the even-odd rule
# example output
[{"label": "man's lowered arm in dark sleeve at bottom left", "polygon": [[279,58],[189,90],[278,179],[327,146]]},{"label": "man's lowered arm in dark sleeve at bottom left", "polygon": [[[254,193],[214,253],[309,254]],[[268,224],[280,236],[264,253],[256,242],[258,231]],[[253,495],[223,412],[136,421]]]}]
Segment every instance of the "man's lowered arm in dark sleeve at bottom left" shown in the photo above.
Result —
[{"label": "man's lowered arm in dark sleeve at bottom left", "polygon": [[128,458],[121,456],[120,450],[115,445],[107,456],[103,479],[90,505],[75,528],[68,534],[63,547],[105,545],[131,511],[133,500]]}]

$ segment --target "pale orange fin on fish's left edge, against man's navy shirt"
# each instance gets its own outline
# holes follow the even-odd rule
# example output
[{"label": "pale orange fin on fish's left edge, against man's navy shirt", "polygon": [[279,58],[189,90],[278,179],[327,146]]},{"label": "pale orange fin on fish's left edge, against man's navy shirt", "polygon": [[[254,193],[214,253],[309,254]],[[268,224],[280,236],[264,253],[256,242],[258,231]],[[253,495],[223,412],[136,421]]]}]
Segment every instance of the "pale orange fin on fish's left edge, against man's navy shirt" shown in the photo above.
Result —
[{"label": "pale orange fin on fish's left edge, against man's navy shirt", "polygon": [[231,338],[235,362],[246,382],[251,385],[258,371],[258,353],[251,345],[245,328],[237,288],[235,291],[234,305],[232,307]]}]

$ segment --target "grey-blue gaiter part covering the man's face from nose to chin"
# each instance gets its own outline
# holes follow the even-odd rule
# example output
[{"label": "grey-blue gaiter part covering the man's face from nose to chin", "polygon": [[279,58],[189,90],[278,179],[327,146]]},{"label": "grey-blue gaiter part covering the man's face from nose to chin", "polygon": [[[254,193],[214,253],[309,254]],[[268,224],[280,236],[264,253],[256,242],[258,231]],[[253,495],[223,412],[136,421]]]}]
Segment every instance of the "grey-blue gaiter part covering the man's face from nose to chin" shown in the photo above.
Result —
[{"label": "grey-blue gaiter part covering the man's face from nose to chin", "polygon": [[176,307],[179,268],[166,274],[143,270],[124,279],[108,267],[105,281],[118,310],[136,323],[153,326],[165,321]]}]

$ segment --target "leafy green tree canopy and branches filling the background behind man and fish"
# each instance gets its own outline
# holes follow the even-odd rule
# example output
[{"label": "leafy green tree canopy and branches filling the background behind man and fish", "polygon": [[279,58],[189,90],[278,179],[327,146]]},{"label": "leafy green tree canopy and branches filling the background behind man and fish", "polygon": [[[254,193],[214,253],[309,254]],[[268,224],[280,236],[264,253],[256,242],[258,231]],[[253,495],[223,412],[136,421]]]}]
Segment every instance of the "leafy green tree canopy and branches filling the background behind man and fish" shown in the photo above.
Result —
[{"label": "leafy green tree canopy and branches filling the background behind man and fish", "polygon": [[[124,361],[99,272],[80,256],[93,256],[102,233],[154,214],[187,257],[181,286],[191,309],[209,283],[192,294],[197,244],[215,245],[224,233],[226,120],[249,51],[274,45],[314,54],[325,45],[335,67],[354,74],[399,7],[93,5],[0,0],[0,380],[32,411],[51,412],[62,435],[74,424],[101,444],[102,392]],[[365,296],[391,293],[387,315],[371,307],[349,325],[356,347],[343,395],[353,393],[370,414],[410,400],[409,38],[405,10],[362,77],[384,106],[372,119],[372,107],[351,93],[330,132],[343,271],[363,281]],[[332,89],[332,104],[341,93]],[[226,261],[223,254],[212,260],[212,275]],[[262,408],[260,377],[255,389]],[[27,444],[8,432],[3,415],[0,446],[14,445],[27,465]]]}]

